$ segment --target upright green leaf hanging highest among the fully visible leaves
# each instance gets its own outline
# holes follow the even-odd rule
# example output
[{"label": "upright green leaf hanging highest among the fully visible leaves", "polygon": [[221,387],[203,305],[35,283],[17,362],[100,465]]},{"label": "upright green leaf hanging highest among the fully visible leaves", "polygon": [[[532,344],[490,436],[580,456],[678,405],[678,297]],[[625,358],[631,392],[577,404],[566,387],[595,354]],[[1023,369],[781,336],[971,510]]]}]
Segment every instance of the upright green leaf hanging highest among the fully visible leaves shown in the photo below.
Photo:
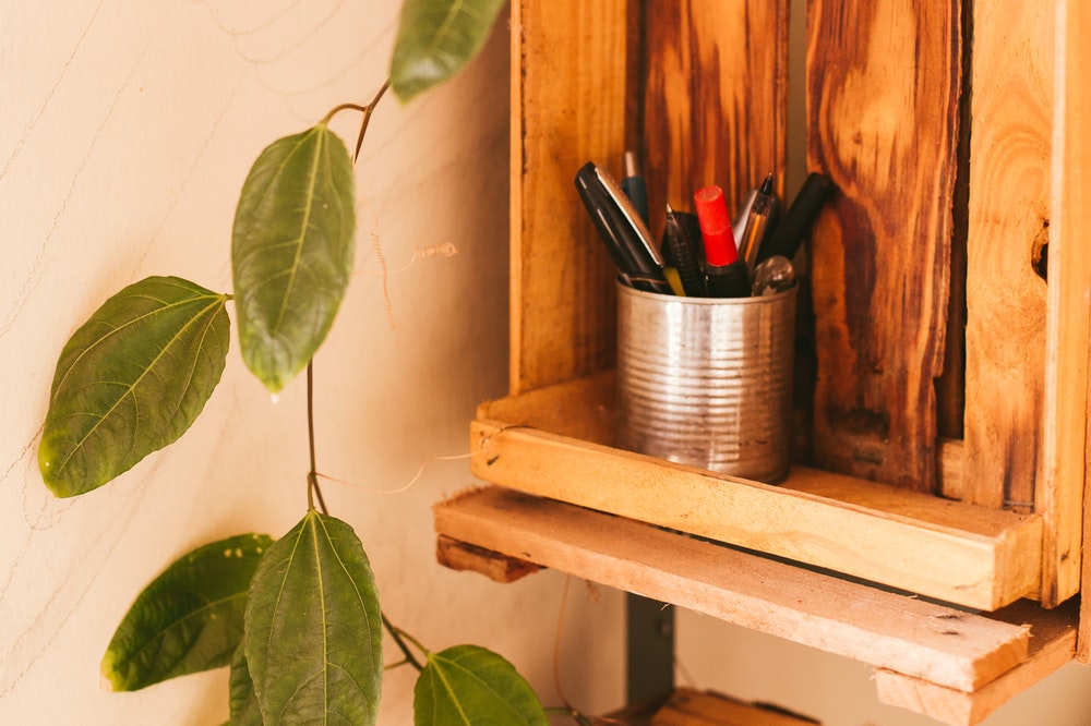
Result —
[{"label": "upright green leaf hanging highest among the fully visible leaves", "polygon": [[352,271],[352,162],[325,124],[274,142],[242,186],[231,265],[242,359],[276,392],[322,344]]}]

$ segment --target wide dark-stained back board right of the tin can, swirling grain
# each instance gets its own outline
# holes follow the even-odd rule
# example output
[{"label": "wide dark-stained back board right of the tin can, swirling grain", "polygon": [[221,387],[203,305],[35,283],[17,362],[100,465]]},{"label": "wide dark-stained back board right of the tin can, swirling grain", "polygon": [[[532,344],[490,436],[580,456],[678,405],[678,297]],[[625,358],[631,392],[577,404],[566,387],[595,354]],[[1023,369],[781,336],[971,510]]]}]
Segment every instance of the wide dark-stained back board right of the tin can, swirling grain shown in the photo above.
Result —
[{"label": "wide dark-stained back board right of the tin can, swirling grain", "polygon": [[932,491],[958,146],[961,2],[816,0],[808,167],[817,465]]}]

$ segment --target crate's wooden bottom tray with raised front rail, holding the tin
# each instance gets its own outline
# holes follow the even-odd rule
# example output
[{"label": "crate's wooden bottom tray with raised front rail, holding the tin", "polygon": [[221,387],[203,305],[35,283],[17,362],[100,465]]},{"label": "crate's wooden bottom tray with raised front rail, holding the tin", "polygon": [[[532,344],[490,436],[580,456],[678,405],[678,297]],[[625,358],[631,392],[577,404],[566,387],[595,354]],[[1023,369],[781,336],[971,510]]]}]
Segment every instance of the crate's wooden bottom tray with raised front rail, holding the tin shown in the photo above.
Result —
[{"label": "crate's wooden bottom tray with raised front rail, holding the tin", "polygon": [[471,425],[471,472],[968,607],[995,609],[1036,592],[1036,516],[804,467],[768,486],[622,451],[609,444],[610,380],[482,404]]}]

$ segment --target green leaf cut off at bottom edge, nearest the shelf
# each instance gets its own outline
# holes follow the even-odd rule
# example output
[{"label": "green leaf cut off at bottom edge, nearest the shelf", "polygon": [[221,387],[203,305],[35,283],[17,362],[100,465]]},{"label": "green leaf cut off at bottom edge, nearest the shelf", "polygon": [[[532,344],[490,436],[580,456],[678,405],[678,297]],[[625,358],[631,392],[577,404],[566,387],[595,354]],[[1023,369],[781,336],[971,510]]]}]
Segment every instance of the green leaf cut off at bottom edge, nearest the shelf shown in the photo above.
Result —
[{"label": "green leaf cut off at bottom edge, nearest the shelf", "polygon": [[430,653],[413,693],[416,726],[548,726],[541,701],[515,667],[478,645]]}]

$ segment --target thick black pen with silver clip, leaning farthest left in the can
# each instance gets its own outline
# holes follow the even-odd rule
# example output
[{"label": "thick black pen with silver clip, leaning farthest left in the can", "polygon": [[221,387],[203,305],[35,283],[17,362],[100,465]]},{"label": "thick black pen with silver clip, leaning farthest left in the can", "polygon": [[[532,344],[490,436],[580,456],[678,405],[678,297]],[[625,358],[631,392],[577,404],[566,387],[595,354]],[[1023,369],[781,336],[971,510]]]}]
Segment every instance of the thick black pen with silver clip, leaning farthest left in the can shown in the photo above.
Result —
[{"label": "thick black pen with silver clip, leaning farthest left in the can", "polygon": [[576,173],[575,182],[622,279],[637,290],[672,294],[651,232],[613,177],[588,161]]}]

